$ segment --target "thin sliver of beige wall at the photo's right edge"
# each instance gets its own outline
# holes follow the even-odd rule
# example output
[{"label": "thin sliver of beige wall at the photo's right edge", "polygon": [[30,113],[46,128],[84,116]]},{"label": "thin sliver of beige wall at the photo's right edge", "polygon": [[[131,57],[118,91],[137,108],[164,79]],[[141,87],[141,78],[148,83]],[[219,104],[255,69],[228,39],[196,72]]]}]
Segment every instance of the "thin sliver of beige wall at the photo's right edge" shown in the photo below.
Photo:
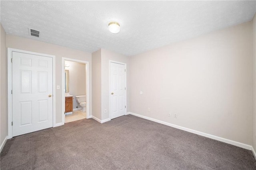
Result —
[{"label": "thin sliver of beige wall at the photo's right edge", "polygon": [[252,146],[256,150],[256,14],[252,19]]}]

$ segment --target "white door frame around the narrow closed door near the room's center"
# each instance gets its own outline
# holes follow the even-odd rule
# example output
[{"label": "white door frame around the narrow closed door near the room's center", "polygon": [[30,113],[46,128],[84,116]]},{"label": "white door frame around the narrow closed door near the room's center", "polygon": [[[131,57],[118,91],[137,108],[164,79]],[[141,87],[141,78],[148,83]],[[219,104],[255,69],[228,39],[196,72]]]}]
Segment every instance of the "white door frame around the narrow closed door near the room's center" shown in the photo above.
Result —
[{"label": "white door frame around the narrow closed door near the room's center", "polygon": [[[119,61],[113,61],[113,60],[109,60],[109,120],[111,120],[111,63],[117,63],[117,64],[122,64],[124,65],[125,69],[126,69],[126,63],[122,63],[122,62],[119,62]],[[125,81],[124,81],[124,86],[125,86],[125,105],[126,105],[126,108],[125,108],[125,115],[127,113],[127,69],[125,71]]]}]

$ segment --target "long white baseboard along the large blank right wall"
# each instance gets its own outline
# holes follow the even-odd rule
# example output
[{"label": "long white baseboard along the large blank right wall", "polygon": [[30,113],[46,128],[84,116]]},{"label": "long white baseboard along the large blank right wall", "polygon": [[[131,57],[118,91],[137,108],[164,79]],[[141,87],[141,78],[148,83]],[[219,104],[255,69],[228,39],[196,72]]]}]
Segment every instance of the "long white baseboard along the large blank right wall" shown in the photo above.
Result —
[{"label": "long white baseboard along the large blank right wall", "polygon": [[208,138],[211,138],[211,139],[215,139],[215,140],[218,140],[218,141],[221,141],[221,142],[225,142],[225,143],[228,143],[228,144],[232,144],[232,145],[235,145],[235,146],[238,146],[238,147],[241,147],[241,148],[245,148],[245,149],[248,149],[248,150],[252,150],[252,146],[248,145],[248,144],[244,144],[244,143],[240,143],[240,142],[236,142],[234,140],[229,140],[229,139],[226,139],[226,138],[222,138],[222,137],[218,137],[218,136],[214,136],[212,134],[207,134],[207,133],[204,133],[204,132],[199,132],[197,130],[193,130],[193,129],[190,129],[190,128],[186,128],[186,127],[181,127],[181,126],[178,126],[178,125],[174,125],[172,123],[167,123],[167,122],[164,122],[164,121],[159,121],[157,119],[153,119],[153,118],[150,118],[150,117],[146,117],[146,116],[142,116],[142,115],[138,115],[136,113],[132,113],[130,112],[131,115],[134,115],[134,116],[137,116],[137,117],[141,117],[143,119],[147,119],[147,120],[150,120],[150,121],[154,121],[154,122],[157,122],[157,123],[161,123],[163,125],[167,125],[169,127],[174,127],[174,128],[178,128],[180,130],[185,130],[187,132],[191,132],[191,133],[194,133],[194,134],[198,134],[200,136],[205,136],[205,137],[208,137]]}]

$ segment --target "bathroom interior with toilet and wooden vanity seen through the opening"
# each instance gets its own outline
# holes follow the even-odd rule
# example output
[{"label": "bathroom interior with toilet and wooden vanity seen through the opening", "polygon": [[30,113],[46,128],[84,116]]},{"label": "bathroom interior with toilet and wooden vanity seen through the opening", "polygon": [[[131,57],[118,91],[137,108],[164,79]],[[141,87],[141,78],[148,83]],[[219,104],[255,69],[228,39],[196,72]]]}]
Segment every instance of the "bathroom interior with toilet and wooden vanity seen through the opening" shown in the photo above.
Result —
[{"label": "bathroom interior with toilet and wooden vanity seen through the opening", "polygon": [[65,123],[86,119],[86,63],[65,61]]}]

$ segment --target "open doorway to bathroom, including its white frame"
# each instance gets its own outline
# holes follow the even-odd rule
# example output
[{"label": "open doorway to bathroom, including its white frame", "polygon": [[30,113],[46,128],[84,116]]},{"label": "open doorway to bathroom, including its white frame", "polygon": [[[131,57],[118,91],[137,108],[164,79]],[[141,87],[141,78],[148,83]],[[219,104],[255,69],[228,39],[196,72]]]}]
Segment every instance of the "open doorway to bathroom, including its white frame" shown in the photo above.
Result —
[{"label": "open doorway to bathroom, including its white frame", "polygon": [[62,123],[89,118],[88,62],[62,57]]}]

